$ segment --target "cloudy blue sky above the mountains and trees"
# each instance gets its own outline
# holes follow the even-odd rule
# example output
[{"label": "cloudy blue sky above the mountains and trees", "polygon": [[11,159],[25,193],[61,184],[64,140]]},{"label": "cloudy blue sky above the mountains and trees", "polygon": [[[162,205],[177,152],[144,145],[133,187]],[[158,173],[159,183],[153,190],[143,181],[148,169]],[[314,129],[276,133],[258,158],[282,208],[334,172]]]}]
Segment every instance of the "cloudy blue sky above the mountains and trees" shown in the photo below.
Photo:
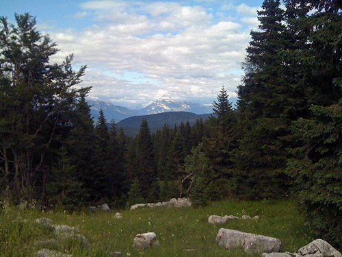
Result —
[{"label": "cloudy blue sky above the mountains and trees", "polygon": [[241,84],[261,0],[1,0],[0,16],[36,16],[42,34],[87,65],[89,97],[138,108],[157,99],[210,104],[222,86],[231,101]]}]

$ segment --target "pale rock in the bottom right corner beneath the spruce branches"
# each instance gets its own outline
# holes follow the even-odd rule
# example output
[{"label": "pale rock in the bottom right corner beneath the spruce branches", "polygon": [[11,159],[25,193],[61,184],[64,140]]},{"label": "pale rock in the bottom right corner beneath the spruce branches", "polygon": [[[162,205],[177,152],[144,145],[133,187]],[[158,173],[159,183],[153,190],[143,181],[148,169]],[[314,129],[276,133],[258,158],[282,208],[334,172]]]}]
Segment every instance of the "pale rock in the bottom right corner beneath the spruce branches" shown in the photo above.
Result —
[{"label": "pale rock in the bottom right corner beneath the spruce branches", "polygon": [[342,257],[342,254],[322,239],[316,239],[295,252],[304,257]]}]

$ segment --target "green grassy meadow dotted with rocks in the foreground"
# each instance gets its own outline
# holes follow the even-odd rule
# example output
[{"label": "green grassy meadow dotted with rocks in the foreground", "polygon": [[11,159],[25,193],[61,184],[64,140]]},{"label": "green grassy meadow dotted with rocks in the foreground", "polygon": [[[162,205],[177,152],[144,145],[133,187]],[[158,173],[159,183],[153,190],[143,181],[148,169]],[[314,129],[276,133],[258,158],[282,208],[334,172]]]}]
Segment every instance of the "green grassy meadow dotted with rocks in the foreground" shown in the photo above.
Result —
[{"label": "green grassy meadow dotted with rocks in the foreground", "polygon": [[[116,211],[122,219],[114,219]],[[224,225],[208,223],[210,215],[259,215],[258,220],[231,220]],[[133,211],[112,210],[96,212],[38,212],[6,207],[0,213],[0,255],[3,257],[35,256],[44,248],[37,241],[54,238],[53,231],[34,223],[46,217],[54,224],[75,226],[88,238],[91,247],[79,242],[45,245],[60,252],[67,251],[74,257],[110,256],[110,252],[122,252],[122,256],[261,256],[246,254],[242,249],[227,250],[215,243],[219,228],[273,236],[282,241],[283,251],[295,252],[310,243],[313,238],[304,225],[304,217],[291,199],[277,201],[214,202],[206,208],[144,208]],[[136,234],[155,232],[159,247],[139,250],[133,247]],[[188,252],[185,249],[195,249]]]}]

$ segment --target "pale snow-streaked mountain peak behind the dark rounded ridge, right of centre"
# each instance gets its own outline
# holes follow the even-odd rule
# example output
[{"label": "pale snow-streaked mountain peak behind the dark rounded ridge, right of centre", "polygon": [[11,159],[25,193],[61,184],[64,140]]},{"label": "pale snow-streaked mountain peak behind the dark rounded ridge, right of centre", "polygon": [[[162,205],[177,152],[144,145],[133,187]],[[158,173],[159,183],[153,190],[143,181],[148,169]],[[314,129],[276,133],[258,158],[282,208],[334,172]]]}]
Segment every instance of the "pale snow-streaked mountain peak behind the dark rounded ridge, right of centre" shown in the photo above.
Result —
[{"label": "pale snow-streaked mountain peak behind the dark rounded ridge, right of centre", "polygon": [[189,101],[171,101],[167,99],[158,99],[157,101],[152,101],[140,110],[138,110],[143,115],[146,114],[157,114],[162,112],[193,112],[196,114],[207,114],[213,112],[213,106],[202,105],[200,103],[192,103]]}]

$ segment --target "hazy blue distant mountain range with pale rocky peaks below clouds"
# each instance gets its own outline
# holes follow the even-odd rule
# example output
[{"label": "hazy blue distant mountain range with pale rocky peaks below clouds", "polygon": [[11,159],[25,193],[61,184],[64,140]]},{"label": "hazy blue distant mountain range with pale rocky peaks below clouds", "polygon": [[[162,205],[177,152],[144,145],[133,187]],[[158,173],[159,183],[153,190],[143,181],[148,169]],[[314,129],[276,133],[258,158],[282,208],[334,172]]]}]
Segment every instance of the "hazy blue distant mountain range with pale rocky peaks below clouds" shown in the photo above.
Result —
[{"label": "hazy blue distant mountain range with pale rocky peaks below clouds", "polygon": [[109,121],[115,122],[127,119],[133,116],[146,115],[146,114],[158,114],[163,112],[192,112],[194,114],[209,114],[213,112],[213,106],[202,105],[200,103],[192,103],[189,101],[171,101],[167,99],[158,99],[152,101],[146,106],[143,106],[137,110],[130,110],[123,106],[114,106],[109,101],[92,100],[87,99],[90,104],[90,112],[92,117],[96,120],[98,112],[102,109],[105,114],[105,118]]}]

